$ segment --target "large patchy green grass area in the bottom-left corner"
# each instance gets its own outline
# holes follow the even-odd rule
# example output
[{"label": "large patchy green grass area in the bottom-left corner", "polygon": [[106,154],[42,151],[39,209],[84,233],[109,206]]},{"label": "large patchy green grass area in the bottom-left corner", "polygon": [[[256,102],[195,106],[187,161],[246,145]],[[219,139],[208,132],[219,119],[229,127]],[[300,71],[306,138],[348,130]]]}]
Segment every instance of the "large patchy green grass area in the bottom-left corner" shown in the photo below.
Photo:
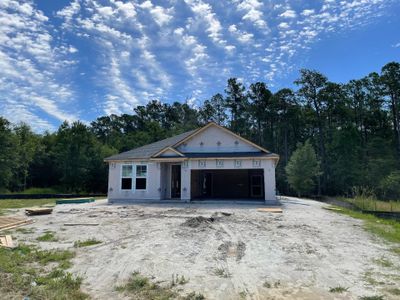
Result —
[{"label": "large patchy green grass area in the bottom-left corner", "polygon": [[82,279],[66,272],[74,253],[20,245],[0,248],[0,294],[4,299],[87,299]]}]

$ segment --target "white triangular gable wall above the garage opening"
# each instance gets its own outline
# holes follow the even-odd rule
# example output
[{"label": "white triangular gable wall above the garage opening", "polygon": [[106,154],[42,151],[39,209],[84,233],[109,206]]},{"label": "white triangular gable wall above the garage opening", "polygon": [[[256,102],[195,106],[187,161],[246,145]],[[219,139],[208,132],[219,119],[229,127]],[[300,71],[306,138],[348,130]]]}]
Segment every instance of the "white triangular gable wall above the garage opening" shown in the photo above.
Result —
[{"label": "white triangular gable wall above the garage opening", "polygon": [[[235,142],[238,143],[235,143]],[[218,142],[220,145],[218,145]],[[202,145],[201,145],[202,143]],[[186,145],[185,145],[186,144]],[[211,126],[195,135],[186,143],[179,145],[178,151],[187,152],[259,152],[260,150],[224,130]]]}]

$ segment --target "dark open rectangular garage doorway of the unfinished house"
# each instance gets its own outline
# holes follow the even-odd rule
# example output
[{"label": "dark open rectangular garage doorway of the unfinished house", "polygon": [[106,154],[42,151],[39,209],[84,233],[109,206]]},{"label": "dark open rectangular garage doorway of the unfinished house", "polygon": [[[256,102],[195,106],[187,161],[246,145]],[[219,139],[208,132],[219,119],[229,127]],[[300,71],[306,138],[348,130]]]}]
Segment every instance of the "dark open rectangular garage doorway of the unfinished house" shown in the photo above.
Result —
[{"label": "dark open rectangular garage doorway of the unfinished house", "polygon": [[264,170],[192,170],[192,199],[264,199]]}]

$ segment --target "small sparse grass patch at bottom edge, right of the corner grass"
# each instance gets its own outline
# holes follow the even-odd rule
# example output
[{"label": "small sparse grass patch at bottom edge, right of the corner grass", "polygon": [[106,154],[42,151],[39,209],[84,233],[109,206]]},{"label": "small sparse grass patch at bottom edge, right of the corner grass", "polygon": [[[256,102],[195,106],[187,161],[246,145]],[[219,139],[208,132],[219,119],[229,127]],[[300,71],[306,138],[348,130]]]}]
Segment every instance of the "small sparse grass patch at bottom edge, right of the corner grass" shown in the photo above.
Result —
[{"label": "small sparse grass patch at bottom edge, right of the corner grass", "polygon": [[174,299],[178,297],[178,294],[171,288],[162,287],[139,272],[132,273],[128,282],[125,285],[117,286],[116,290],[129,294],[133,299]]}]

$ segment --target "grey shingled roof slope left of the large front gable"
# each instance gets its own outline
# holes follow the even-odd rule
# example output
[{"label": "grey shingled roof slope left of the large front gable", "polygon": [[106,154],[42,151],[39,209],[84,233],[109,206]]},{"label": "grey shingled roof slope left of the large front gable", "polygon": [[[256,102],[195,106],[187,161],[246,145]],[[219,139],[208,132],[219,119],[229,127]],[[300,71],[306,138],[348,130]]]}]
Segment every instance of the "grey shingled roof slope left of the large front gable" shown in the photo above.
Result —
[{"label": "grey shingled roof slope left of the large front gable", "polygon": [[197,131],[198,129],[187,131],[178,135],[175,135],[170,138],[166,138],[164,140],[151,143],[142,147],[138,147],[126,152],[122,152],[116,155],[112,155],[110,157],[107,157],[105,161],[111,161],[111,160],[128,160],[128,159],[148,159],[151,158],[154,154],[157,152],[161,151],[162,149],[166,147],[170,147],[175,145],[176,143],[179,143],[183,139],[187,138],[190,136],[192,133]]}]

